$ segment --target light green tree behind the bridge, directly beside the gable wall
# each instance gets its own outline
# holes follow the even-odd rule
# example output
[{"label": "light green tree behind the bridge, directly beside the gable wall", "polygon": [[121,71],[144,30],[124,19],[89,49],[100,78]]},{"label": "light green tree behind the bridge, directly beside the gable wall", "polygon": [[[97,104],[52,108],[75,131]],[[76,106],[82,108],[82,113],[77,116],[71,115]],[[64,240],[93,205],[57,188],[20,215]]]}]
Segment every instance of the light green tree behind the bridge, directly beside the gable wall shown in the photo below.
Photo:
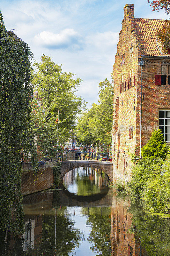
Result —
[{"label": "light green tree behind the bridge, directly beside the gable wall", "polygon": [[80,138],[84,137],[85,144],[90,141],[107,150],[111,143],[113,124],[113,85],[105,79],[99,83],[99,88],[99,104],[92,104],[92,108],[78,119],[77,137],[82,144],[83,139]]}]

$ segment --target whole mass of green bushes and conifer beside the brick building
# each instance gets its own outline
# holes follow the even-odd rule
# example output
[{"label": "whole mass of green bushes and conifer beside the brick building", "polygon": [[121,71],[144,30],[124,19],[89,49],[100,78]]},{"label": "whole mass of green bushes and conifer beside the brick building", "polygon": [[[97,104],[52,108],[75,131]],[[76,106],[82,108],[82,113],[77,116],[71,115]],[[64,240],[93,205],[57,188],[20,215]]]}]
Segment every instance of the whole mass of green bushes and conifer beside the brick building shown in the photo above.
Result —
[{"label": "whole mass of green bushes and conifer beside the brick building", "polygon": [[170,148],[160,130],[142,148],[143,159],[133,164],[128,189],[132,196],[142,197],[151,212],[170,211]]}]

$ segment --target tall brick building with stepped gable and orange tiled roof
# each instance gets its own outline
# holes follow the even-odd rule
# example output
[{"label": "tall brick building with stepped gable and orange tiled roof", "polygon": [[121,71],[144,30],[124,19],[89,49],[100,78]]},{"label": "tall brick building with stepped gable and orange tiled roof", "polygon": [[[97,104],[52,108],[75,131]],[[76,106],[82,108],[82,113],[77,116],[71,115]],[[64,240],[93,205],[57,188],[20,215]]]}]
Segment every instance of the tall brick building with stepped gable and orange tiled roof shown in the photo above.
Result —
[{"label": "tall brick building with stepped gable and orange tiled roof", "polygon": [[164,22],[134,18],[134,5],[124,7],[113,66],[113,180],[130,180],[129,155],[140,157],[153,129],[170,142],[170,55],[155,40]]}]

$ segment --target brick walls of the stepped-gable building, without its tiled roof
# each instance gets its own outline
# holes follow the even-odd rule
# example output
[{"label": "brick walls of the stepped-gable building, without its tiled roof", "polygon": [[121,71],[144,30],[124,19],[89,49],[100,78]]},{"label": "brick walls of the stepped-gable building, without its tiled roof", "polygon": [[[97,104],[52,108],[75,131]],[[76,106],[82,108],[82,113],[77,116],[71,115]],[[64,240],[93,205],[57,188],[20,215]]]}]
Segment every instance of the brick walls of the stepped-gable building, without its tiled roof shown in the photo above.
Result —
[{"label": "brick walls of the stepped-gable building, without its tiled roof", "polygon": [[[132,47],[133,56],[130,53]],[[127,4],[124,8],[122,30],[119,34],[112,73],[114,78],[113,180],[130,180],[132,162],[129,155],[130,153],[137,156],[140,154],[141,67],[139,62],[143,50],[134,27],[134,5]],[[124,56],[123,61],[122,56]],[[170,58],[149,57],[143,56],[144,66],[142,67],[142,146],[150,139],[154,126],[158,126],[159,108],[170,108],[170,85],[155,85],[154,83],[155,75],[161,74],[161,64],[167,65],[168,70]],[[130,73],[132,68],[133,75]],[[124,75],[123,81],[122,75]],[[131,139],[129,139],[129,127],[134,129]]]}]

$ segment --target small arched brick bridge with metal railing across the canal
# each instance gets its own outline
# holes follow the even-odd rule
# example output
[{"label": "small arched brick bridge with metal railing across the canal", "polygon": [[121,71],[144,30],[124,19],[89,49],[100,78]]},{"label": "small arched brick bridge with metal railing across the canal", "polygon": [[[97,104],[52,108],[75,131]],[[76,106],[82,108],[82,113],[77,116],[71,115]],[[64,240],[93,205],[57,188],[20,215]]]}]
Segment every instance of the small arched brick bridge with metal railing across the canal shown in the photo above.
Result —
[{"label": "small arched brick bridge with metal railing across the canal", "polygon": [[113,165],[112,162],[101,162],[101,161],[63,161],[61,166],[60,184],[63,184],[64,175],[78,167],[92,167],[97,168],[107,174],[109,180],[113,180]]}]

